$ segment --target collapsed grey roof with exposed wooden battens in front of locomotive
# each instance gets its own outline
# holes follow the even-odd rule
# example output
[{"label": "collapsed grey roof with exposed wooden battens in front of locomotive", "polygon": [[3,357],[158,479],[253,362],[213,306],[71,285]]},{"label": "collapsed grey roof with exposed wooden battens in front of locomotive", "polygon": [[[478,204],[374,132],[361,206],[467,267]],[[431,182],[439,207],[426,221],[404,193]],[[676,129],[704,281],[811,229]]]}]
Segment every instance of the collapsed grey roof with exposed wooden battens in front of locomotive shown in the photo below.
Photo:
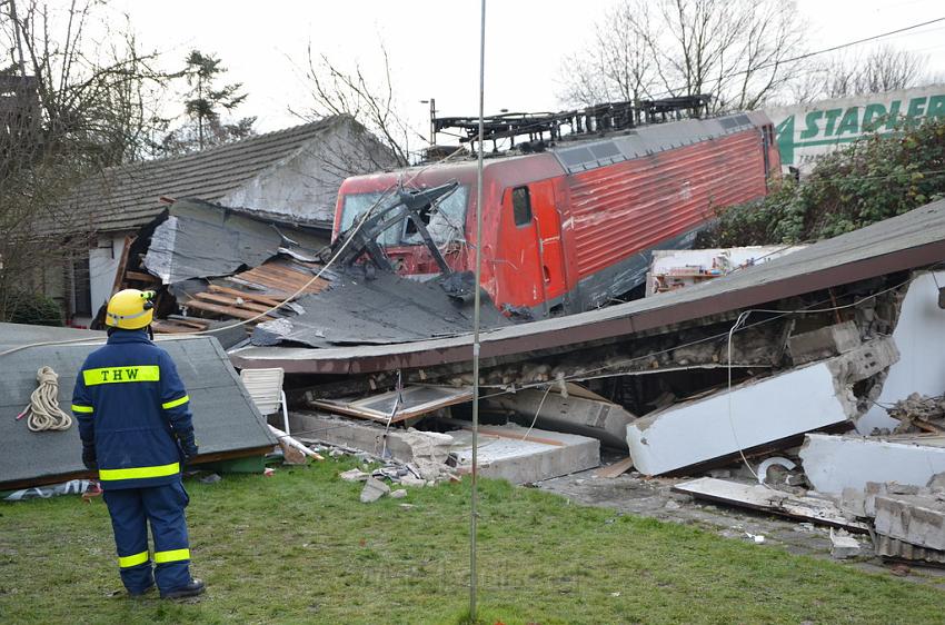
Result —
[{"label": "collapsed grey roof with exposed wooden battens in front of locomotive", "polygon": [[[471,327],[469,276],[420,282],[355,264],[326,271],[322,241],[305,226],[181,200],[139,231],[125,284],[167,287],[156,331],[211,329],[222,319],[255,328],[252,345],[385,345]],[[494,306],[483,309],[484,327],[509,324]]]}]

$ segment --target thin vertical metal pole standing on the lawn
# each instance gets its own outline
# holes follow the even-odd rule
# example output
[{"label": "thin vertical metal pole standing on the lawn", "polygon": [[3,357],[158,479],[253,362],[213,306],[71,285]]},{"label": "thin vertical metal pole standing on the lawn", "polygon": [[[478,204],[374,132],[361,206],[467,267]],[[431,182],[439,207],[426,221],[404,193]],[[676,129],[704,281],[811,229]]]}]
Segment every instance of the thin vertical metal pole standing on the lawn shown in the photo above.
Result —
[{"label": "thin vertical metal pole standing on the lawn", "polygon": [[469,619],[476,622],[476,526],[477,478],[479,474],[479,291],[483,279],[483,115],[486,92],[486,0],[479,24],[479,158],[476,166],[476,290],[472,302],[472,474],[469,514]]}]

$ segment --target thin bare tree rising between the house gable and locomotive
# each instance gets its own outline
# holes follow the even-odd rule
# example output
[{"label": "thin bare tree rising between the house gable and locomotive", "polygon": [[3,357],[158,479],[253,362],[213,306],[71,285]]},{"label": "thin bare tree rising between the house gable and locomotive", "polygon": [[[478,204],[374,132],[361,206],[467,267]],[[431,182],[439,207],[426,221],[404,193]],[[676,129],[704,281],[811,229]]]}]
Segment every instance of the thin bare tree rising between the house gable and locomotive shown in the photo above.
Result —
[{"label": "thin bare tree rising between the house gable and locomotive", "polygon": [[[410,161],[410,140],[419,136],[397,112],[390,58],[384,43],[380,44],[380,56],[384,60],[382,77],[380,80],[372,80],[366,76],[359,62],[355,62],[351,69],[347,70],[327,54],[315,52],[309,41],[307,65],[301,69],[301,73],[311,99],[307,108],[290,107],[289,110],[302,119],[350,116],[370,135],[379,138],[397,162],[407,165]],[[377,162],[375,169],[389,165],[389,161]],[[362,172],[364,166],[359,165],[357,169],[356,172]]]}]

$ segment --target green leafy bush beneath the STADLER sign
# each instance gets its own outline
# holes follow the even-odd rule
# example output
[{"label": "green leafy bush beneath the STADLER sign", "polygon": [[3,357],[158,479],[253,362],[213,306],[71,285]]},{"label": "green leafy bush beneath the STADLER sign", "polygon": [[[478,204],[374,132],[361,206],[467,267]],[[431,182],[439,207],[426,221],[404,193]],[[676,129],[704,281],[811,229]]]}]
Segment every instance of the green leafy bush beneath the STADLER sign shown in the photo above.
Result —
[{"label": "green leafy bush beneath the STADLER sign", "polygon": [[817,163],[800,183],[774,181],[759,201],[733,206],[699,245],[790,245],[826,239],[945,197],[945,119],[871,135]]}]

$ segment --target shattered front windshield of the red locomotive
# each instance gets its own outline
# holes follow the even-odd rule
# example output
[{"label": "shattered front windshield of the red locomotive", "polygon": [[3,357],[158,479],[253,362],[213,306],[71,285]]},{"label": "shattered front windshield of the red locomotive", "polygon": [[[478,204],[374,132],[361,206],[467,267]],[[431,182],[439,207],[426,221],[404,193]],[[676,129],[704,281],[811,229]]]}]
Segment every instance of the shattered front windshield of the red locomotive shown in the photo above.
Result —
[{"label": "shattered front windshield of the red locomotive", "polygon": [[[341,221],[339,231],[344,232],[360,218],[365,211],[370,210],[384,194],[372,191],[366,194],[349,194],[345,196],[341,204]],[[397,204],[396,194],[380,201],[375,214],[386,207]],[[469,186],[460,185],[455,191],[444,197],[434,206],[426,206],[420,210],[420,218],[427,226],[434,242],[441,247],[452,241],[465,240],[466,206],[469,201]],[[400,224],[391,226],[378,237],[381,246],[395,247],[402,245],[424,245],[424,239],[417,232],[414,222],[404,219]]]}]

